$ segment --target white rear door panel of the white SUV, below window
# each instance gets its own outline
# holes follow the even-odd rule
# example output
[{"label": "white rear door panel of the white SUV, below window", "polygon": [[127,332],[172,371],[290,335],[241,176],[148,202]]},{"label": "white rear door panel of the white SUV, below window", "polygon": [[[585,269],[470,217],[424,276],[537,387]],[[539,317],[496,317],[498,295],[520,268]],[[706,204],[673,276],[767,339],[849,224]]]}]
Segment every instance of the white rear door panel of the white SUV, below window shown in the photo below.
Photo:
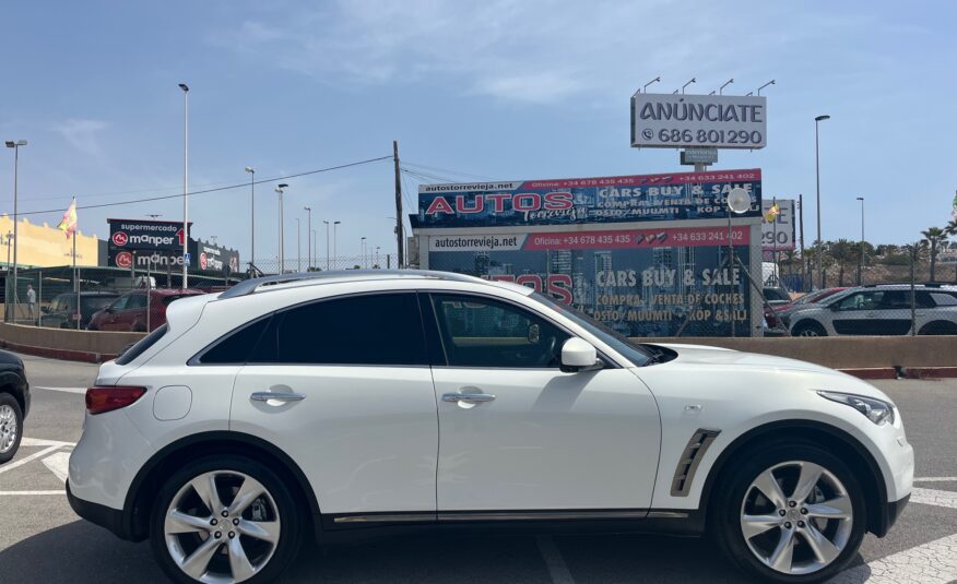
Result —
[{"label": "white rear door panel of the white SUV, below window", "polygon": [[[257,402],[292,392],[298,402]],[[438,428],[428,367],[246,366],[231,430],[302,467],[323,513],[435,511]]]}]

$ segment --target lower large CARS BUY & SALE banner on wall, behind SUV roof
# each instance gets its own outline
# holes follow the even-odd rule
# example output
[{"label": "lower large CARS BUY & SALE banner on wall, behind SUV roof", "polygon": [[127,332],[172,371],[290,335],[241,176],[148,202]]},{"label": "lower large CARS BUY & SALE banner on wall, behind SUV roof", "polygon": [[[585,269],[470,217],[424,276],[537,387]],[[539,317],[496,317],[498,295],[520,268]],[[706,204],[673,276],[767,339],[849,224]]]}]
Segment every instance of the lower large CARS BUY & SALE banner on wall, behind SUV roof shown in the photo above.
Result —
[{"label": "lower large CARS BUY & SALE banner on wall, behind SUV roof", "polygon": [[[731,231],[749,262],[749,227]],[[428,236],[428,267],[506,279],[571,305],[627,336],[751,332],[746,275],[726,227]],[[733,322],[733,324],[732,324]]]}]

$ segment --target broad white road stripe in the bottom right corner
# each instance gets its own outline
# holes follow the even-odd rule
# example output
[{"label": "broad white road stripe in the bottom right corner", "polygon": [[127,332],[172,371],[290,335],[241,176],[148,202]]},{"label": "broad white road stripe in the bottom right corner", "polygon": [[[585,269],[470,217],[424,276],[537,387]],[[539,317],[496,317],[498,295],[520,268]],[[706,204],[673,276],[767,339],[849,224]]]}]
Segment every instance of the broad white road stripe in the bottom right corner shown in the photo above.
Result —
[{"label": "broad white road stripe in the bottom right corner", "polygon": [[846,570],[828,584],[946,584],[957,579],[957,535]]}]

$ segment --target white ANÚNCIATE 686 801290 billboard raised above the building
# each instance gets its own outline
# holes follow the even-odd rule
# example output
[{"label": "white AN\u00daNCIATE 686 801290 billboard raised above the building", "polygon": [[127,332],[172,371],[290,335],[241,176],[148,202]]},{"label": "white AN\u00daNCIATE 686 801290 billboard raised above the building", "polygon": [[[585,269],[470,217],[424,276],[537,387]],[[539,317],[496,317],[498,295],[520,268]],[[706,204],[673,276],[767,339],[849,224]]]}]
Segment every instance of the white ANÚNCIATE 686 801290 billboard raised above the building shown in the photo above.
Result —
[{"label": "white AN\u00daNCIATE 686 801290 billboard raised above the building", "polygon": [[767,98],[635,94],[631,97],[631,145],[763,148],[767,145]]}]

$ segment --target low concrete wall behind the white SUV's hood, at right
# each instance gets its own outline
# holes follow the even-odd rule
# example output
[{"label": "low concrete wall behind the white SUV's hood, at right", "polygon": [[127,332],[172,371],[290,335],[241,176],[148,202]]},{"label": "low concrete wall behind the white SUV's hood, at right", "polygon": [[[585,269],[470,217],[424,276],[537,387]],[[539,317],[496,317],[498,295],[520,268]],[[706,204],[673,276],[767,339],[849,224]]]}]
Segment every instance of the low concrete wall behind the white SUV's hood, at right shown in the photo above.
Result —
[{"label": "low concrete wall behind the white SUV's hood, at right", "polygon": [[836,369],[955,367],[957,336],[828,336],[776,338],[641,338],[791,357]]}]

